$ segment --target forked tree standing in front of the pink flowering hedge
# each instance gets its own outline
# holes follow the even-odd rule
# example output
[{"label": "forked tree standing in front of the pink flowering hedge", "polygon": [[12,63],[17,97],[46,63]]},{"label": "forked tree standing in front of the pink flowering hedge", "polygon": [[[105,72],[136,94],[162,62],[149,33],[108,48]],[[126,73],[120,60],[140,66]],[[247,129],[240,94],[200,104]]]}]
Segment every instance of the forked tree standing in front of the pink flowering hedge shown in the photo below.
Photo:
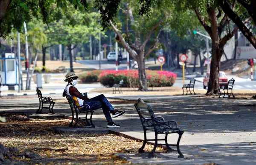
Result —
[{"label": "forked tree standing in front of the pink flowering hedge", "polygon": [[[158,36],[163,26],[167,24],[171,6],[166,1],[155,3],[154,10],[150,11],[151,17],[141,17],[136,14],[141,6],[132,5],[134,3],[136,3],[134,0],[125,0],[122,3],[119,18],[125,22],[123,27],[120,23],[115,25],[110,21],[110,24],[116,33],[116,39],[138,63],[139,90],[147,91],[145,59],[159,44]],[[125,29],[125,33],[120,30],[121,28]],[[149,45],[150,39],[154,39],[151,45]]]}]

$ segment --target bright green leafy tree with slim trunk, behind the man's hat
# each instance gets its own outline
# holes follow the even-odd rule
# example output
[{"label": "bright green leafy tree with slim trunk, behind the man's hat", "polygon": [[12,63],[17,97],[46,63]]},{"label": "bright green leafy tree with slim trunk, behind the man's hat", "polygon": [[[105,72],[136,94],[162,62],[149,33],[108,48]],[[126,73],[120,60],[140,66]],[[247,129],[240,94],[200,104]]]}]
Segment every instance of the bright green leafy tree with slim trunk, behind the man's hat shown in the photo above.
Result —
[{"label": "bright green leafy tree with slim trunk, behind the man's hat", "polygon": [[58,19],[52,25],[52,35],[56,42],[59,42],[67,46],[70,59],[70,71],[73,71],[73,53],[72,50],[76,48],[79,43],[89,42],[90,35],[98,38],[98,34],[102,31],[99,24],[99,13],[88,12],[81,13],[80,11],[74,11],[72,8],[67,8],[64,11],[59,11]]}]

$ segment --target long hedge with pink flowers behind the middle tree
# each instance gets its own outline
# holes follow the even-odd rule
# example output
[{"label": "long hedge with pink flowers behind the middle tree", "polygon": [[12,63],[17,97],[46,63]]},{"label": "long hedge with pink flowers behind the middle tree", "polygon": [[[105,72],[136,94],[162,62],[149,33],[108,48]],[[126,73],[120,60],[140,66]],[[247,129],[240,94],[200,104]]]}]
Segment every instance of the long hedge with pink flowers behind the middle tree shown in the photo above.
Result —
[{"label": "long hedge with pink flowers behind the middle tree", "polygon": [[[94,70],[93,73],[87,73],[87,76],[98,74],[98,81],[107,87],[113,84],[119,84],[123,80],[123,87],[138,87],[139,74],[138,70]],[[148,87],[167,87],[175,83],[177,74],[168,71],[146,70]],[[85,77],[87,77],[85,76]],[[82,80],[89,78],[82,78]],[[95,80],[95,78],[91,78]],[[88,81],[83,81],[88,82]],[[95,81],[94,81],[95,82]]]}]

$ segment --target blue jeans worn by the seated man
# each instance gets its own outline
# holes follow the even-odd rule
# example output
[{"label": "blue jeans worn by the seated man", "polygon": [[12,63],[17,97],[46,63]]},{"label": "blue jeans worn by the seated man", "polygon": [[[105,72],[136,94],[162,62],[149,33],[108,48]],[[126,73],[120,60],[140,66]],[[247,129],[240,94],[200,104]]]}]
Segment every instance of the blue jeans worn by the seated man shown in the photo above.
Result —
[{"label": "blue jeans worn by the seated man", "polygon": [[107,119],[108,122],[112,121],[111,115],[109,112],[114,112],[114,108],[111,105],[111,103],[108,101],[108,99],[105,97],[105,95],[101,94],[94,98],[90,98],[89,100],[84,100],[84,104],[88,104],[90,106],[90,109],[100,109],[102,108],[103,113]]}]

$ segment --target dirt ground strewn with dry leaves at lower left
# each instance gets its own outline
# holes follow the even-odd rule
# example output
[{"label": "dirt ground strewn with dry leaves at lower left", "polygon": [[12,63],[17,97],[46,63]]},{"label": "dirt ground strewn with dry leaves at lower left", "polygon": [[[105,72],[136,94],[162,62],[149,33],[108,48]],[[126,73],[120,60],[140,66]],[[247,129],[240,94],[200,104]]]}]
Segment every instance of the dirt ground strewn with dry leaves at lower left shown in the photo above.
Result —
[{"label": "dirt ground strewn with dry leaves at lower left", "polygon": [[[52,127],[67,126],[70,122],[67,119],[32,119],[10,114],[5,117],[6,123],[0,123],[0,142],[18,151],[10,149],[3,157],[0,154],[0,164],[131,164],[114,153],[137,152],[142,145],[113,134],[56,134]],[[153,145],[146,145],[145,151],[152,148]]]}]

